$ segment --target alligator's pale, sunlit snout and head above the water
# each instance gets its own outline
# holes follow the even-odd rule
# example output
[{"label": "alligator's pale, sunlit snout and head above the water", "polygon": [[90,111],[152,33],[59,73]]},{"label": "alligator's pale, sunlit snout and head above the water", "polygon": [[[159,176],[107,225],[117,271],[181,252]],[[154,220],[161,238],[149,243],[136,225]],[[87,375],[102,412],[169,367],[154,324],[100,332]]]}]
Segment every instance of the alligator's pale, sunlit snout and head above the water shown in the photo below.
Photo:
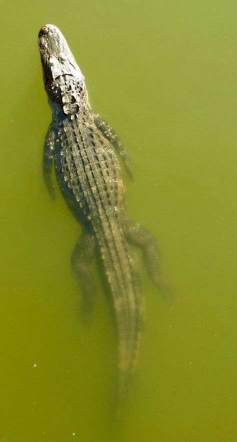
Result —
[{"label": "alligator's pale, sunlit snout and head above the water", "polygon": [[56,26],[45,24],[41,27],[38,47],[45,87],[48,86],[46,82],[53,82],[60,75],[71,75],[78,80],[84,79],[64,36]]}]

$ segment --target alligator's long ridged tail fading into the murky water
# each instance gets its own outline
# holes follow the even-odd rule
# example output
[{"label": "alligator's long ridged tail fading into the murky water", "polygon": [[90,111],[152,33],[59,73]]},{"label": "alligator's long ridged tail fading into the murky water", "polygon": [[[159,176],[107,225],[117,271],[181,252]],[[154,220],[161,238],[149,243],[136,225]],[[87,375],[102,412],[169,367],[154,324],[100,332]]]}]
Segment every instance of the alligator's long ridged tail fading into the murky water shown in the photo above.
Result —
[{"label": "alligator's long ridged tail fading into the murky water", "polygon": [[96,229],[101,257],[112,295],[118,337],[118,399],[127,390],[134,370],[143,318],[136,264],[117,220]]}]

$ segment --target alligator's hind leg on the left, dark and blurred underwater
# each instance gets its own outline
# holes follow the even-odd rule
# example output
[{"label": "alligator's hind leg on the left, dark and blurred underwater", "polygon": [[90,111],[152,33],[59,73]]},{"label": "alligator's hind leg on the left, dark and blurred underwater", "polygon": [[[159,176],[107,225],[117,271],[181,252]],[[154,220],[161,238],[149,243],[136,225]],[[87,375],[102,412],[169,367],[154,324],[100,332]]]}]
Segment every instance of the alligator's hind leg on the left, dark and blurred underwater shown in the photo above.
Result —
[{"label": "alligator's hind leg on the left, dark and blurred underwater", "polygon": [[87,231],[83,231],[77,240],[71,255],[72,269],[83,292],[81,300],[81,312],[83,317],[88,316],[92,310],[96,296],[94,279],[89,270],[89,263],[94,256],[94,252],[94,237]]}]

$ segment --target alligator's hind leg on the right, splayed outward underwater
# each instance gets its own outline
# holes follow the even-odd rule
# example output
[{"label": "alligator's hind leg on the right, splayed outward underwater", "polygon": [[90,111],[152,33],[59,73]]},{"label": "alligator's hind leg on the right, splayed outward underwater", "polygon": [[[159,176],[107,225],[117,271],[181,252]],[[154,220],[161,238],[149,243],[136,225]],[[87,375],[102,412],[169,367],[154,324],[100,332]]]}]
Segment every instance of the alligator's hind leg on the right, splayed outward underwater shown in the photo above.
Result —
[{"label": "alligator's hind leg on the right, splayed outward underwater", "polygon": [[129,220],[123,222],[123,232],[129,243],[142,249],[147,272],[161,291],[164,299],[173,301],[174,296],[171,287],[161,276],[160,253],[155,237],[140,224]]}]

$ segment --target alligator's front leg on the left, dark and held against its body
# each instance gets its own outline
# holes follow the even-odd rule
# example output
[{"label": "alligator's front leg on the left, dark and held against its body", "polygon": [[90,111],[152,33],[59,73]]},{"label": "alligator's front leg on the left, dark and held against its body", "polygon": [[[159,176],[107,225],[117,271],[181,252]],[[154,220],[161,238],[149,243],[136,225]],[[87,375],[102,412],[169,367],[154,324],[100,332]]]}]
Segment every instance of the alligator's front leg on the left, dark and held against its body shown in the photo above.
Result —
[{"label": "alligator's front leg on the left, dark and held against its body", "polygon": [[55,146],[55,130],[53,124],[50,123],[44,139],[42,169],[43,169],[43,179],[46,184],[48,193],[52,199],[55,199],[54,185],[52,183],[52,178],[51,178],[54,146]]}]

